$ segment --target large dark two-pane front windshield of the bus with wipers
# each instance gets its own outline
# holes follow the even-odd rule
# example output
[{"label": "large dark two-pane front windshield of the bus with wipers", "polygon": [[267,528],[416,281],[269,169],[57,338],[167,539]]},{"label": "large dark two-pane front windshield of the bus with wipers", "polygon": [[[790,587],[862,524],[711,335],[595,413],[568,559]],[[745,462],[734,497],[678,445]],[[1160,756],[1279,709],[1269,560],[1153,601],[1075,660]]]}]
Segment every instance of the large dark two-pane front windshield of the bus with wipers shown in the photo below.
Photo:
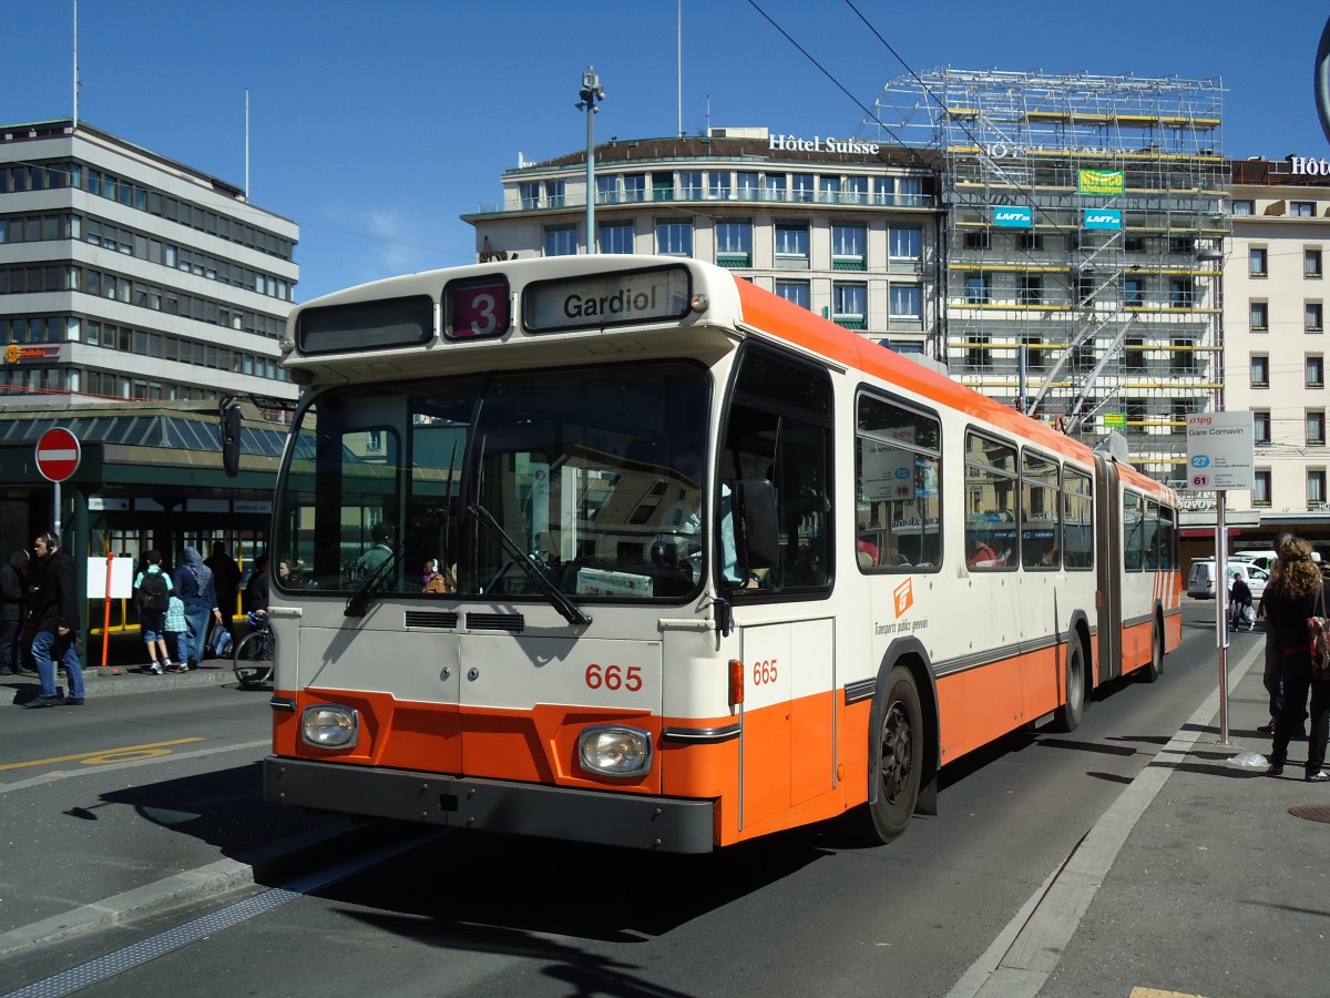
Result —
[{"label": "large dark two-pane front windshield of the bus with wipers", "polygon": [[661,361],[323,391],[293,427],[274,580],[358,600],[681,600],[704,568],[709,386]]}]

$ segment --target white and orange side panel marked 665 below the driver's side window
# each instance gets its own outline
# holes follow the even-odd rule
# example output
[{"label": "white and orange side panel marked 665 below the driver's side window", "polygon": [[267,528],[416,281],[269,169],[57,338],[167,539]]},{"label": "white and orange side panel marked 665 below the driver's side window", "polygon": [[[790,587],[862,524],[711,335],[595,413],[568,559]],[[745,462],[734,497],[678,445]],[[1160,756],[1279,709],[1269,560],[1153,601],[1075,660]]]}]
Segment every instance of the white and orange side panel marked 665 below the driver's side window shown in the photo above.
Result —
[{"label": "white and orange side panel marked 665 below the driver's side window", "polygon": [[833,786],[831,623],[827,617],[741,628],[745,828]]}]

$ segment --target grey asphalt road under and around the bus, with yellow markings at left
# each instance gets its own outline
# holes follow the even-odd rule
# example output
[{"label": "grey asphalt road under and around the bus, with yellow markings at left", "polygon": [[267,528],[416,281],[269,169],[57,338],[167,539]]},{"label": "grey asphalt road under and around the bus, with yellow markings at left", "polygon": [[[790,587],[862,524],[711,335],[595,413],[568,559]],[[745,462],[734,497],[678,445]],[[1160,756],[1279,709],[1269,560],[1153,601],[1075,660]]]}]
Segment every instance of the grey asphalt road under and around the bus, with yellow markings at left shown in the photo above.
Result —
[{"label": "grey asphalt road under and around the bus, with yellow markings at left", "polygon": [[[1021,732],[950,766],[940,814],[890,846],[835,824],[705,857],[394,833],[12,953],[0,991],[65,993],[53,975],[77,969],[61,979],[105,995],[947,995],[1214,691],[1213,604],[1185,619],[1158,683],[1111,691],[1072,735]],[[258,801],[263,695],[78,711],[0,728],[0,758],[21,764],[0,769],[0,931],[329,821]]]}]

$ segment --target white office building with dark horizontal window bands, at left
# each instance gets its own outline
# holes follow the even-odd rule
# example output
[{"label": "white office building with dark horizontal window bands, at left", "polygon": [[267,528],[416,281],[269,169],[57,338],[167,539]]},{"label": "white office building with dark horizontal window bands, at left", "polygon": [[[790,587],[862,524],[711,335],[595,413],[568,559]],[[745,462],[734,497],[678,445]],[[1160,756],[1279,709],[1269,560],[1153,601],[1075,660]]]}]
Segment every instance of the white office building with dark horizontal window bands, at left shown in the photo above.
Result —
[{"label": "white office building with dark horizontal window bands, at left", "polygon": [[0,126],[0,397],[294,399],[299,228],[86,124]]}]

